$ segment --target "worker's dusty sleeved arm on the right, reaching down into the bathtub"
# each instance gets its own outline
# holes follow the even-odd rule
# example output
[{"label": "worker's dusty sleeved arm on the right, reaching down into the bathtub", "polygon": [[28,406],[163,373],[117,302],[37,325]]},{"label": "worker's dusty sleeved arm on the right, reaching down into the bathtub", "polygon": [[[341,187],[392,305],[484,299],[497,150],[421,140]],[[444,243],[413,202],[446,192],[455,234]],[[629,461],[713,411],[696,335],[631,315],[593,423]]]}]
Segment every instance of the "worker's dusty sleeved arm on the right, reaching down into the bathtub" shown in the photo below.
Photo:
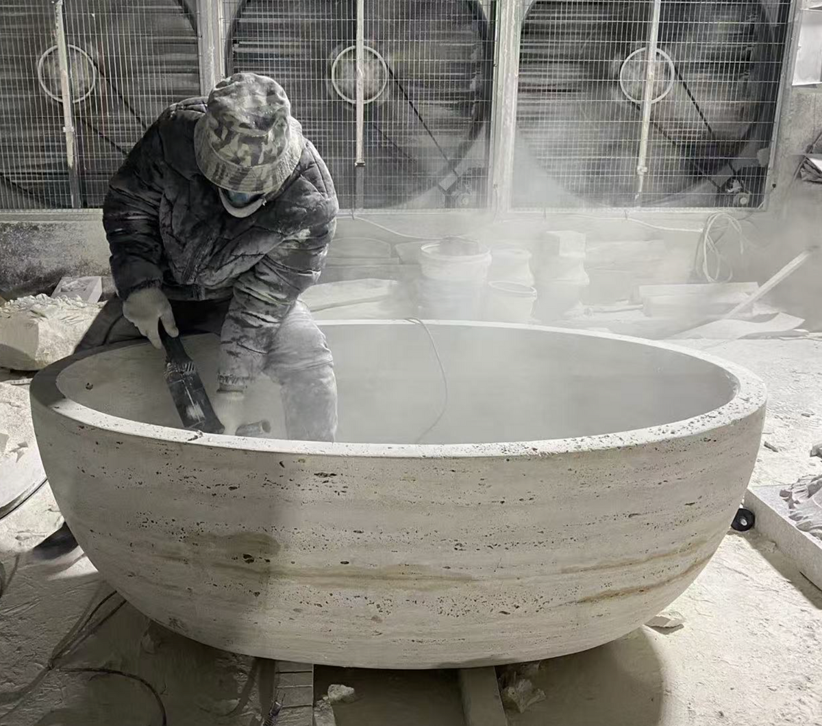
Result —
[{"label": "worker's dusty sleeved arm on the right, reaching down into the bathtub", "polygon": [[319,279],[335,227],[332,219],[282,238],[240,275],[221,336],[221,390],[244,391],[260,374],[283,318]]}]

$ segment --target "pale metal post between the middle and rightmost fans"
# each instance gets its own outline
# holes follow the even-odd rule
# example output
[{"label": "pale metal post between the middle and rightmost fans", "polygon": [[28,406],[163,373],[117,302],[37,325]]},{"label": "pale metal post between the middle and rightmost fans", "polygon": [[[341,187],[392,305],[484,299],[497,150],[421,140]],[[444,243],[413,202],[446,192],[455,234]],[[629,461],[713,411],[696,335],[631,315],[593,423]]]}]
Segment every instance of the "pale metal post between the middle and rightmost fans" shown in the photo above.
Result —
[{"label": "pale metal post between the middle and rightmost fans", "polygon": [[488,184],[488,206],[496,214],[505,213],[511,204],[520,79],[520,30],[524,6],[525,0],[498,0],[496,3],[491,183]]}]

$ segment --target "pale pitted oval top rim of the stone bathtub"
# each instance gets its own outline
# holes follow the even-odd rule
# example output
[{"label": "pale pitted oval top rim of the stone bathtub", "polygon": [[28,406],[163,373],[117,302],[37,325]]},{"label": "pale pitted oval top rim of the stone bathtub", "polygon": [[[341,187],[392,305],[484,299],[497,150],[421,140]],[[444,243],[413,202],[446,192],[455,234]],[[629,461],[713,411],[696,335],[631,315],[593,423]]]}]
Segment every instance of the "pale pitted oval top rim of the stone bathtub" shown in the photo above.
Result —
[{"label": "pale pitted oval top rim of the stone bathtub", "polygon": [[[388,326],[419,325],[410,319],[399,320],[334,320],[317,321],[321,328],[339,326]],[[617,340],[631,345],[644,345],[665,350],[670,353],[695,358],[724,372],[734,387],[731,400],[716,409],[706,411],[691,418],[660,424],[647,428],[635,428],[626,431],[594,434],[586,437],[567,437],[554,439],[537,439],[518,442],[489,442],[463,444],[412,444],[412,443],[351,443],[351,442],[294,442],[289,439],[258,439],[222,434],[192,432],[185,429],[160,426],[154,423],[142,423],[130,418],[121,418],[91,409],[76,400],[67,398],[58,386],[60,374],[78,361],[92,355],[101,354],[132,345],[150,345],[148,340],[127,340],[122,343],[105,345],[99,348],[73,354],[52,363],[39,371],[31,381],[30,400],[32,407],[38,405],[48,409],[51,414],[68,418],[81,426],[111,432],[121,436],[149,439],[154,442],[169,444],[188,443],[195,446],[225,448],[251,453],[269,453],[294,456],[326,456],[330,458],[370,458],[370,459],[459,459],[459,458],[534,458],[578,454],[582,451],[606,451],[647,446],[670,442],[673,439],[698,437],[718,428],[741,423],[757,414],[767,402],[767,391],[764,382],[747,368],[731,363],[723,358],[704,354],[700,350],[689,349],[678,345],[656,340],[644,340],[628,335],[616,335],[594,331],[580,331],[570,328],[540,326],[518,323],[499,323],[485,321],[423,321],[429,327],[459,326],[481,328],[506,328],[526,331],[575,335],[587,338]],[[210,335],[209,333],[200,335]],[[185,337],[195,337],[187,335]]]}]

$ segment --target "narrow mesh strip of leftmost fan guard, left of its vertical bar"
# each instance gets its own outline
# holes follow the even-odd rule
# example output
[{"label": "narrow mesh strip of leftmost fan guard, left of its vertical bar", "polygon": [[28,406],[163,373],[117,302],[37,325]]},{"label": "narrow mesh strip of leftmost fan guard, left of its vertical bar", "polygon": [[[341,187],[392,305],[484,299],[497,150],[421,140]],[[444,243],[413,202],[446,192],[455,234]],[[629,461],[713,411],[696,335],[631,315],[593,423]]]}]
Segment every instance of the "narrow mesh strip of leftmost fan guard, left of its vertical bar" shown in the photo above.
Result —
[{"label": "narrow mesh strip of leftmost fan guard, left of its vertical bar", "polygon": [[50,0],[0,0],[0,209],[72,205],[54,45]]}]

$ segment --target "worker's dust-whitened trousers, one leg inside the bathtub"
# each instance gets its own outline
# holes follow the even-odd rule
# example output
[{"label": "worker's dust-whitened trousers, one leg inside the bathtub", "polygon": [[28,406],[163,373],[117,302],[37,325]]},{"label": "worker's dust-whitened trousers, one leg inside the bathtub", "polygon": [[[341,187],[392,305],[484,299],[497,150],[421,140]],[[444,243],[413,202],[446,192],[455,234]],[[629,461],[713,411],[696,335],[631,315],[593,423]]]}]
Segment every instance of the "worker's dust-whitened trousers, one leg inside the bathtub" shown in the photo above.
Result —
[{"label": "worker's dust-whitened trousers, one leg inside the bathtub", "polygon": [[[230,300],[170,303],[181,334],[219,335]],[[99,312],[77,350],[141,338],[140,331],[123,317],[122,300],[113,298]],[[266,357],[264,372],[279,382],[289,438],[333,442],[337,432],[334,361],[326,336],[304,303],[295,303],[284,317]]]}]

